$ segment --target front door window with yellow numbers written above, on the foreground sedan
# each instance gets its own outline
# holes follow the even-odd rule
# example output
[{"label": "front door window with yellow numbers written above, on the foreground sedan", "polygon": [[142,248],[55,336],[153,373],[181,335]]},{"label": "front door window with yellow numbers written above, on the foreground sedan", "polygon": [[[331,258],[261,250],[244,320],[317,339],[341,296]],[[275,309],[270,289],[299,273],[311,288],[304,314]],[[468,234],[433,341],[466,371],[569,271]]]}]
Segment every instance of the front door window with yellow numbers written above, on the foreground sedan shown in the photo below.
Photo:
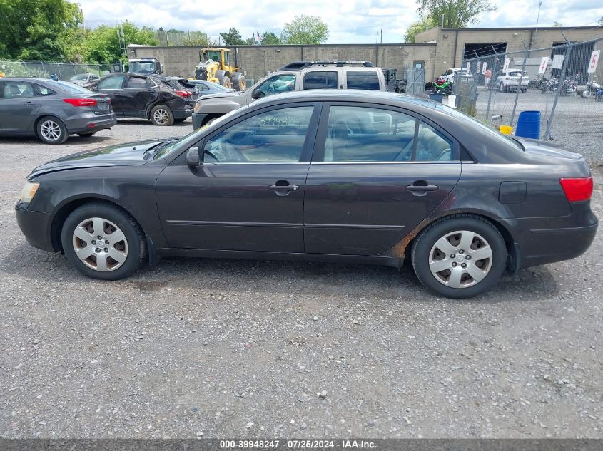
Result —
[{"label": "front door window with yellow numbers written above, on the foreground sedan", "polygon": [[206,142],[203,162],[299,162],[313,111],[313,106],[283,108],[241,120]]}]

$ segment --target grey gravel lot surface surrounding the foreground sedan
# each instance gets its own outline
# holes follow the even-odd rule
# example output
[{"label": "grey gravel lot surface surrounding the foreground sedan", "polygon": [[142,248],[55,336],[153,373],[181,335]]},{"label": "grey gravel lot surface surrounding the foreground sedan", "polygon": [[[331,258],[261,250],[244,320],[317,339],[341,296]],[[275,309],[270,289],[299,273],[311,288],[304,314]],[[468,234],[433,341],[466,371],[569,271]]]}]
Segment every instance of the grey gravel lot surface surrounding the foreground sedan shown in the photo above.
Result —
[{"label": "grey gravel lot surface surrounding the foreground sedan", "polygon": [[25,242],[36,165],[190,124],[0,140],[0,437],[603,437],[602,232],[469,301],[360,265],[174,259],[101,282]]}]

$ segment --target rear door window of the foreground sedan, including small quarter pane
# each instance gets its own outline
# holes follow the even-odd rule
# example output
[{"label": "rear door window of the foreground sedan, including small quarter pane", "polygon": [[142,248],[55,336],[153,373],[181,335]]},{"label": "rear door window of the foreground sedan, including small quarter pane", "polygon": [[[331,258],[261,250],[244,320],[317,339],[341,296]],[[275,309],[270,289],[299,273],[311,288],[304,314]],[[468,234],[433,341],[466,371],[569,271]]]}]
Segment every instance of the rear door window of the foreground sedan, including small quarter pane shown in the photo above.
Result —
[{"label": "rear door window of the foreground sedan, including small quarter pane", "polygon": [[411,115],[380,108],[330,108],[325,162],[450,160],[452,142]]}]

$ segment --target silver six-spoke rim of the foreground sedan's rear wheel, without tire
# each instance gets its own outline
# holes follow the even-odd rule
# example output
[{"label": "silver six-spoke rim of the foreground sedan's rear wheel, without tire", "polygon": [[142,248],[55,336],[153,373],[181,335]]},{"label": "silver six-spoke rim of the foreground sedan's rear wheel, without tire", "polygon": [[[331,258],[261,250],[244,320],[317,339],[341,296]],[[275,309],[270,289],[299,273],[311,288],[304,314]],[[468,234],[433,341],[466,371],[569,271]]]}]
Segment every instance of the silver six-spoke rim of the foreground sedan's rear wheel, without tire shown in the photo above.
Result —
[{"label": "silver six-spoke rim of the foreground sedan's rear wheel, without tire", "polygon": [[467,288],[482,281],[492,268],[492,248],[480,234],[450,232],[435,242],[429,268],[437,281],[451,288]]}]

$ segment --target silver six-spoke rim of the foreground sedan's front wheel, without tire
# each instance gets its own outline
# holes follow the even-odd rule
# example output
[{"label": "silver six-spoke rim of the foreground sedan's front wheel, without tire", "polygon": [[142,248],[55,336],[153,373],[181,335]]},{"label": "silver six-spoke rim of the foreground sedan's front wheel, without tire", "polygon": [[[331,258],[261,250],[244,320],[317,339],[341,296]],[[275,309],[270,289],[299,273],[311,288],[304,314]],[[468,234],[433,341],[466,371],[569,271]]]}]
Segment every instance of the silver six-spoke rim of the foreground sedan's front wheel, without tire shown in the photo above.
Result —
[{"label": "silver six-spoke rim of the foreground sedan's front wheel, without tire", "polygon": [[96,271],[115,271],[128,258],[128,240],[121,229],[107,219],[84,219],[74,229],[76,256]]}]

